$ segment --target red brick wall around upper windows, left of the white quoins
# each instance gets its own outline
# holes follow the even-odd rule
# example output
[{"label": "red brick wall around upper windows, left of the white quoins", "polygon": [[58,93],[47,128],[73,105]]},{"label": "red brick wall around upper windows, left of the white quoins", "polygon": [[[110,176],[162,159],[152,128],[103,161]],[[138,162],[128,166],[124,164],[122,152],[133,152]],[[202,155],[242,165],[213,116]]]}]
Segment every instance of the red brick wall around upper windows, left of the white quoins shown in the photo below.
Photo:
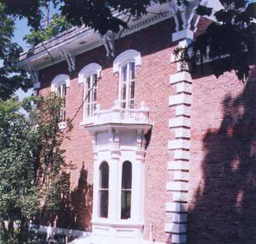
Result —
[{"label": "red brick wall around upper windows, left of the white quoins", "polygon": [[[164,208],[168,198],[166,194],[167,142],[170,137],[168,119],[173,116],[168,109],[168,96],[173,92],[173,88],[170,88],[169,85],[169,79],[170,74],[175,72],[175,65],[170,64],[170,56],[174,49],[171,39],[173,29],[173,20],[165,20],[160,24],[126,36],[115,43],[116,56],[128,49],[141,52],[141,66],[136,69],[135,102],[136,107],[140,105],[140,102],[146,102],[150,108],[150,121],[154,123],[145,160],[144,233],[146,240],[148,240],[149,226],[152,223],[154,226],[153,237],[156,241],[164,241],[164,223],[166,222]],[[113,75],[113,61],[108,61],[106,58],[106,50],[104,47],[99,47],[88,51],[76,57],[76,72],[70,75],[71,84],[67,91],[67,116],[69,118],[76,114],[83,100],[83,85],[78,85],[77,74],[90,63],[99,63],[102,66],[102,79],[98,83],[98,102],[102,108],[111,108],[118,97],[118,74]],[[41,94],[45,95],[49,91],[51,80],[60,73],[68,74],[66,62],[45,68],[40,72]],[[68,135],[70,140],[65,141],[64,145],[67,150],[67,160],[76,165],[76,169],[70,175],[73,192],[79,185],[78,180],[83,162],[84,170],[88,171],[88,184],[93,182],[92,137],[84,126],[79,125],[81,121],[82,111],[79,111],[73,122],[74,129]],[[90,227],[91,204],[81,199],[81,196],[75,197],[75,195],[74,193],[71,206],[72,209],[75,209],[72,211],[72,215],[76,215],[77,219],[74,220],[74,216],[73,219],[72,216],[69,217],[72,220],[69,222],[73,223],[69,227],[85,229]],[[77,206],[79,201],[84,204]],[[63,218],[63,222],[67,224],[67,218]]]}]

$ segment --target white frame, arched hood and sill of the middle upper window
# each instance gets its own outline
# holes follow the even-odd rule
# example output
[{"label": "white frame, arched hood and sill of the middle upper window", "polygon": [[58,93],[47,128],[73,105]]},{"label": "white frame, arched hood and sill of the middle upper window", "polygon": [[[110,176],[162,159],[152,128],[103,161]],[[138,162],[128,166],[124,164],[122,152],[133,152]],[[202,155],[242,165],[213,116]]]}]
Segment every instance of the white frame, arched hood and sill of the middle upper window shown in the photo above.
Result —
[{"label": "white frame, arched hood and sill of the middle upper window", "polygon": [[[97,80],[99,80],[99,78],[101,77],[101,71],[102,71],[102,68],[100,65],[98,65],[97,63],[91,63],[90,65],[84,66],[84,68],[79,72],[78,84],[84,84],[83,100],[87,96],[87,90],[88,90],[86,87],[87,78],[89,76],[91,77],[92,75],[97,75]],[[92,78],[90,78],[90,79],[92,79]],[[92,86],[92,84],[91,84],[91,86]],[[98,85],[97,85],[96,89],[98,89]],[[91,91],[92,93],[93,93],[93,90],[94,89],[92,89],[92,91]],[[96,93],[97,93],[97,90],[96,90]],[[93,98],[93,96],[91,96],[91,98]],[[96,100],[96,102],[92,103],[92,106],[94,103],[97,104],[97,100]],[[87,105],[88,105],[88,101],[86,100],[83,105],[83,121],[80,123],[80,125],[88,125],[88,124],[93,123],[93,121],[95,120],[95,116],[93,116],[93,115],[90,117],[87,116]]]}]

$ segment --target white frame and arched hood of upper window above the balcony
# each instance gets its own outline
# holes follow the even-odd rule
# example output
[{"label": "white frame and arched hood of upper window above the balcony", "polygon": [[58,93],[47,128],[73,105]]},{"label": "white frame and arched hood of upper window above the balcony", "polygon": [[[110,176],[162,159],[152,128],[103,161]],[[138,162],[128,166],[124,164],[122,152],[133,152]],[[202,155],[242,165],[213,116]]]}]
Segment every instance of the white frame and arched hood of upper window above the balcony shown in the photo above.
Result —
[{"label": "white frame and arched hood of upper window above the balcony", "polygon": [[[119,82],[118,82],[118,101],[121,102],[121,96],[122,96],[122,67],[130,62],[134,62],[135,64],[135,73],[136,73],[136,66],[141,66],[141,55],[140,52],[136,50],[126,50],[125,52],[122,52],[119,54],[115,61],[113,62],[113,73],[118,72],[119,73]],[[127,70],[127,77],[129,77],[129,70]],[[135,75],[136,80],[136,75]],[[130,96],[130,84],[131,80],[127,80],[127,86],[126,86],[126,106],[125,108],[129,108],[129,98]],[[136,82],[136,81],[135,81]],[[135,86],[135,84],[134,84]],[[121,105],[121,104],[120,104]]]}]

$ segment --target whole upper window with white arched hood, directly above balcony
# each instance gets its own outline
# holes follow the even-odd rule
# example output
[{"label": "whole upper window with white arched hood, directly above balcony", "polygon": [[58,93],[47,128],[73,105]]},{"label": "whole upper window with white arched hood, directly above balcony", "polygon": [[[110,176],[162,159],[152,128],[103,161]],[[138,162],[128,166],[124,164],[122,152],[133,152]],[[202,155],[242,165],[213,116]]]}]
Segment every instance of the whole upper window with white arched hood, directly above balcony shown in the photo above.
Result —
[{"label": "whole upper window with white arched hood, directly above balcony", "polygon": [[123,109],[134,108],[136,66],[141,65],[140,52],[127,50],[116,57],[113,72],[119,72],[118,100]]}]

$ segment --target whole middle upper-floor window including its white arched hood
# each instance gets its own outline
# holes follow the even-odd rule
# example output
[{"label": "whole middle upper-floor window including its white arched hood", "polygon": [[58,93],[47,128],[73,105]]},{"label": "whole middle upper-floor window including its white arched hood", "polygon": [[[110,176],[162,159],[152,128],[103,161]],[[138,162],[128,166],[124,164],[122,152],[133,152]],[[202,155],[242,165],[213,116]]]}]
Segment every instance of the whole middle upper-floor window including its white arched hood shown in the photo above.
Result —
[{"label": "whole middle upper-floor window including its white arched hood", "polygon": [[[78,83],[84,84],[83,121],[94,116],[97,105],[97,80],[101,75],[101,66],[97,63],[86,65],[78,75]],[[89,121],[86,121],[90,123]]]}]

